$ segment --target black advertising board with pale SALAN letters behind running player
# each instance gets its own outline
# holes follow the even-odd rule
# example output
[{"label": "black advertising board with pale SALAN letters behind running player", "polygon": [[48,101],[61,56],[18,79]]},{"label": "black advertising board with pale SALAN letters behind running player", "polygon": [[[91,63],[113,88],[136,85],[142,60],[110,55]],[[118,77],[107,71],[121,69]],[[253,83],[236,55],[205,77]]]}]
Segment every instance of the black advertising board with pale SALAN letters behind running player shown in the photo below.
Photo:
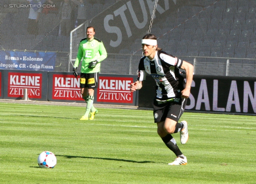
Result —
[{"label": "black advertising board with pale SALAN letters behind running player", "polygon": [[[147,76],[139,107],[152,108],[155,81]],[[256,78],[194,75],[186,110],[256,114]]]}]

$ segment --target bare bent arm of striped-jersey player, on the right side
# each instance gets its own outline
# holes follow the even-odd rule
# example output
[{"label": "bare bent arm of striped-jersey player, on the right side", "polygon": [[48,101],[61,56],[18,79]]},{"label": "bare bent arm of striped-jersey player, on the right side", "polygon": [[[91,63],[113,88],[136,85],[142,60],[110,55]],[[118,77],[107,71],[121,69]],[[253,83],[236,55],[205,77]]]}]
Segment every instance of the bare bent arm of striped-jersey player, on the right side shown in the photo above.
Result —
[{"label": "bare bent arm of striped-jersey player, on the right side", "polygon": [[181,69],[184,69],[186,71],[186,86],[181,92],[181,97],[188,98],[190,95],[190,88],[193,80],[194,67],[190,63],[183,61]]}]

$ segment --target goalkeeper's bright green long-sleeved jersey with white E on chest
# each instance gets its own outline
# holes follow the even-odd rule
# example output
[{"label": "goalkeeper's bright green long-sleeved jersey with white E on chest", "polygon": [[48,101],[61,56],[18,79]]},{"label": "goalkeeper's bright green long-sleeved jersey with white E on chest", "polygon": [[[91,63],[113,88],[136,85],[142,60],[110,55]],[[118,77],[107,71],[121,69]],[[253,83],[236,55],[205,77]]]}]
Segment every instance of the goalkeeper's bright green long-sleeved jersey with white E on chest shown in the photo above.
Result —
[{"label": "goalkeeper's bright green long-sleeved jersey with white E on chest", "polygon": [[[85,38],[80,41],[74,67],[78,67],[80,61],[82,61],[82,66],[81,66],[82,73],[100,72],[100,62],[106,59],[106,57],[107,57],[107,52],[102,41],[100,41],[95,37],[91,41],[88,41]],[[99,62],[96,65],[96,67],[93,69],[89,69],[88,63],[96,60]]]}]

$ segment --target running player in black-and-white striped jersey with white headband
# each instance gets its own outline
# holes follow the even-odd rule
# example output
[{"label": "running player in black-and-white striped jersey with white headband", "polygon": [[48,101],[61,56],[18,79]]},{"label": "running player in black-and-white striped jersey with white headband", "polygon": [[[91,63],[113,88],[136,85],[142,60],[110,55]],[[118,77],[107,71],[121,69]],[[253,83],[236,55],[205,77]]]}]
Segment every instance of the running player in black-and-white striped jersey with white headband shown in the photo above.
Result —
[{"label": "running player in black-and-white striped jersey with white headband", "polygon": [[[190,95],[194,67],[158,48],[156,36],[152,34],[142,38],[142,50],[144,56],[140,59],[138,79],[130,85],[130,91],[134,92],[142,88],[146,74],[154,78],[156,97],[153,108],[157,133],[177,157],[169,165],[186,165],[187,158],[182,154],[171,134],[180,132],[180,142],[185,144],[188,141],[188,123],[186,121],[178,123],[178,121]],[[186,83],[180,74],[180,69],[186,71]]]}]

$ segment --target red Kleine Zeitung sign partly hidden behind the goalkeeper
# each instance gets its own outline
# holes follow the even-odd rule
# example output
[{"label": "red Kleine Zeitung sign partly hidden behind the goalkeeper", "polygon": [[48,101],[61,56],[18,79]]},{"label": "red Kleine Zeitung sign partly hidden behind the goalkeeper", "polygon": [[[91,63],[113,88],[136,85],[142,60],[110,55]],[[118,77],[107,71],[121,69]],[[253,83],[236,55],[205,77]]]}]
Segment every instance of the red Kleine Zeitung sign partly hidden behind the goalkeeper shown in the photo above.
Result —
[{"label": "red Kleine Zeitung sign partly hidden behind the goalkeeper", "polygon": [[81,100],[80,78],[74,75],[53,74],[52,99],[56,100]]}]

